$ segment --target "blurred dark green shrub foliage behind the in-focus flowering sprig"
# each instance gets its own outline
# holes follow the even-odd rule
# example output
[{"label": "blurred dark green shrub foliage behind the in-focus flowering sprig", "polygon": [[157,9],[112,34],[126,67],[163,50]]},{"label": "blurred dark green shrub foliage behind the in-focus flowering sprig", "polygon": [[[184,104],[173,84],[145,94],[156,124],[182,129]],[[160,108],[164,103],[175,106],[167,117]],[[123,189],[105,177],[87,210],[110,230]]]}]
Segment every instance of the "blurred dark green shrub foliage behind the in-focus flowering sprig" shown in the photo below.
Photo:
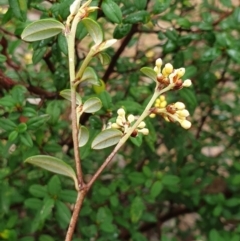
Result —
[{"label": "blurred dark green shrub foliage behind the in-focus flowering sprig", "polygon": [[[185,67],[193,82],[167,95],[186,104],[192,128],[148,119],[150,135],[128,141],[89,192],[74,241],[240,240],[240,7],[226,0],[115,1],[121,19],[109,14],[109,2],[94,1],[102,10],[91,17],[119,44],[107,50],[109,65],[91,62],[107,91],[82,86],[103,108],[81,122],[93,138],[119,107],[140,114],[154,84],[139,69],[161,57]],[[28,44],[20,35],[34,16],[66,20],[71,3],[1,1],[0,240],[65,237],[72,181],[23,160],[47,154],[74,164],[70,105],[59,96],[69,87],[66,42],[60,34]],[[77,65],[91,44],[86,35],[79,24]],[[80,150],[86,180],[111,152],[90,144]]]}]

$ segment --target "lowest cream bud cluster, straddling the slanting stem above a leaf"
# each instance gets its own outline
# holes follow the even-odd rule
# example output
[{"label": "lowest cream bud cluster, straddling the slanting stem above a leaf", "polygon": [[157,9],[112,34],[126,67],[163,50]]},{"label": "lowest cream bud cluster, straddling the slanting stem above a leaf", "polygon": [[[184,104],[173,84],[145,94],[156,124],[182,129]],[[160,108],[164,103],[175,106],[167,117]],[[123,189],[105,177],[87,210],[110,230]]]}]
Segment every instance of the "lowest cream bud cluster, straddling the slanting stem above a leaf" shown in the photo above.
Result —
[{"label": "lowest cream bud cluster, straddling the slanting stem above a leaf", "polygon": [[[130,114],[126,118],[126,112],[123,108],[118,109],[117,111],[117,119],[115,123],[111,124],[111,128],[119,129],[122,133],[127,133],[128,130],[131,128],[132,124],[135,122],[134,115]],[[145,128],[146,124],[144,121],[140,122],[137,129],[135,129],[132,133],[132,137],[137,136],[138,133],[142,133],[143,135],[148,135],[149,130]]]}]

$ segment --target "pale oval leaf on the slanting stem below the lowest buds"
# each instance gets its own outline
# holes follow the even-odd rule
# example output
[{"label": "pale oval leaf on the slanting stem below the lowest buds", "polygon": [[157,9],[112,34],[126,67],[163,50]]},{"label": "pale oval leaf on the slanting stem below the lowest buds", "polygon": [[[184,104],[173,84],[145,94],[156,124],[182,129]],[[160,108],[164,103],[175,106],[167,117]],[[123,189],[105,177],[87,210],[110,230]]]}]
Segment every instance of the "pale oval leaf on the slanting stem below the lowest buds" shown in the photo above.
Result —
[{"label": "pale oval leaf on the slanting stem below the lowest buds", "polygon": [[92,142],[92,149],[99,150],[117,144],[122,132],[116,129],[107,129],[98,134]]}]

